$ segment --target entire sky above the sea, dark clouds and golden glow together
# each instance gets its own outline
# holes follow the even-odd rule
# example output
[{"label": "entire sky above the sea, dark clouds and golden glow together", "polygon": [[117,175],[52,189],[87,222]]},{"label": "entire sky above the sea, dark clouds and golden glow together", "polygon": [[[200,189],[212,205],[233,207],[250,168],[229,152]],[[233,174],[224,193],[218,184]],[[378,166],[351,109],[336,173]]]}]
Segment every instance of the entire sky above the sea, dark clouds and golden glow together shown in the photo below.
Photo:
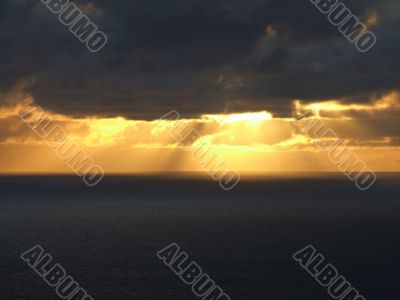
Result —
[{"label": "entire sky above the sea, dark clouds and golden glow together", "polygon": [[306,0],[73,2],[107,35],[100,52],[41,1],[0,2],[0,172],[70,172],[21,120],[34,107],[107,172],[202,170],[177,124],[239,171],[337,171],[296,126],[306,111],[400,171],[397,0],[344,2],[377,36],[366,53]]}]

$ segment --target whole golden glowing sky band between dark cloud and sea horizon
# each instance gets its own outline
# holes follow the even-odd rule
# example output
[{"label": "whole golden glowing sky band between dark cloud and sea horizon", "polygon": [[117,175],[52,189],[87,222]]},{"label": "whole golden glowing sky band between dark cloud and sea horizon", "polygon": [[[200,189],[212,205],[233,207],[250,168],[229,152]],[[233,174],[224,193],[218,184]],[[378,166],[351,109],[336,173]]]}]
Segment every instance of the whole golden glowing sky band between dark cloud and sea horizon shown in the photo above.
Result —
[{"label": "whole golden glowing sky band between dark cloud and sea horizon", "polygon": [[[1,173],[71,173],[54,149],[21,119],[50,122],[65,130],[106,173],[204,171],[188,146],[210,145],[240,172],[339,171],[312,138],[294,125],[295,117],[318,117],[366,165],[376,172],[400,171],[400,94],[389,93],[368,104],[337,100],[293,101],[293,116],[276,118],[270,112],[202,115],[179,120],[127,120],[121,117],[72,118],[35,110],[32,97],[8,96],[0,107]],[[183,144],[171,130],[196,130],[200,136]]]}]

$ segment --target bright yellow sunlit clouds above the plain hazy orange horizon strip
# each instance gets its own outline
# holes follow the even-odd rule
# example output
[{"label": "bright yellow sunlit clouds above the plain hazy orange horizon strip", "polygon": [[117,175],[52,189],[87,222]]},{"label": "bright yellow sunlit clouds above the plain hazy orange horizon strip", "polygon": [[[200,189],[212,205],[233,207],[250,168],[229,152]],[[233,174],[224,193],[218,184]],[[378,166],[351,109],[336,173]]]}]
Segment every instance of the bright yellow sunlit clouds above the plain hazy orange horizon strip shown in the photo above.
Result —
[{"label": "bright yellow sunlit clouds above the plain hazy orange horizon strip", "polygon": [[[49,132],[59,126],[66,135],[87,147],[112,146],[134,147],[180,147],[171,135],[173,128],[183,132],[196,130],[195,141],[207,140],[215,146],[246,147],[246,149],[269,147],[269,150],[293,150],[312,145],[305,143],[307,136],[294,126],[295,117],[304,113],[306,120],[320,118],[328,128],[346,140],[349,146],[396,146],[400,138],[397,124],[400,117],[400,93],[391,92],[369,103],[344,103],[338,100],[303,103],[294,100],[290,117],[274,116],[267,111],[236,114],[203,114],[194,118],[180,116],[176,120],[135,120],[121,116],[70,117],[37,106],[34,98],[22,92],[24,84],[16,86],[4,95],[8,105],[0,106],[0,143],[30,144],[45,141],[27,126],[43,127]],[[24,124],[23,120],[25,120]],[[32,125],[34,124],[34,125]],[[39,127],[40,127],[39,126]],[[183,129],[182,129],[183,128]],[[298,142],[298,143],[297,143]],[[283,147],[286,146],[286,147]]]}]

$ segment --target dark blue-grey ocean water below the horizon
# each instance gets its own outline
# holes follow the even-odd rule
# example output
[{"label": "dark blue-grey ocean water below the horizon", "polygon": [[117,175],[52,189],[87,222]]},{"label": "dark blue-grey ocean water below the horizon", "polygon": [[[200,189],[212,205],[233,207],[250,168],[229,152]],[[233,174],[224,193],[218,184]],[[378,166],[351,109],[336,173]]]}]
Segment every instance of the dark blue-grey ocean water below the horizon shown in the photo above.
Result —
[{"label": "dark blue-grey ocean water below the horizon", "polygon": [[331,299],[292,254],[314,245],[367,300],[400,299],[400,175],[0,177],[0,299],[59,299],[20,254],[40,244],[94,299],[198,299],[158,258],[175,242],[233,299]]}]

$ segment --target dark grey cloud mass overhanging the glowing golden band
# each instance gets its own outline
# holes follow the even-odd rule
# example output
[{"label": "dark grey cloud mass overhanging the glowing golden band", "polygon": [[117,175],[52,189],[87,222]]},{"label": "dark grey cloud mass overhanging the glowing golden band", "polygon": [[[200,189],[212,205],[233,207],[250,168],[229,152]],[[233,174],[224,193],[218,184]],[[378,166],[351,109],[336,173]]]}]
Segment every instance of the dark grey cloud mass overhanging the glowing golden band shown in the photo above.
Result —
[{"label": "dark grey cloud mass overhanging the glowing golden band", "polygon": [[[39,0],[0,2],[0,88],[53,112],[154,119],[370,102],[399,88],[398,0],[348,0],[378,37],[359,53],[308,0],[74,1],[109,43],[89,52]],[[0,100],[2,101],[2,100]]]}]

